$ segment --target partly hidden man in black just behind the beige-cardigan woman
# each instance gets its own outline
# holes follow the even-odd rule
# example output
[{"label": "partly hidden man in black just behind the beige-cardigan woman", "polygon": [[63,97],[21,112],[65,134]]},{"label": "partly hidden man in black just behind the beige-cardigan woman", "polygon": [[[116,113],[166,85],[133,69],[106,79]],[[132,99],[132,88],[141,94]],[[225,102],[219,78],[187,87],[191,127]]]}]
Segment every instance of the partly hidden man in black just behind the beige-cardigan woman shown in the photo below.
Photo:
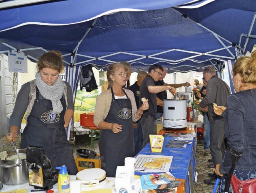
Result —
[{"label": "partly hidden man in black just behind the beige-cardigan woman", "polygon": [[[137,75],[137,81],[129,87],[134,94],[137,109],[139,108],[139,101],[140,101],[140,85],[144,78],[148,75],[145,71],[140,71]],[[135,155],[140,152],[142,149],[142,142],[143,142],[143,134],[141,130],[140,121],[133,122],[134,126],[134,146],[135,146]]]}]

